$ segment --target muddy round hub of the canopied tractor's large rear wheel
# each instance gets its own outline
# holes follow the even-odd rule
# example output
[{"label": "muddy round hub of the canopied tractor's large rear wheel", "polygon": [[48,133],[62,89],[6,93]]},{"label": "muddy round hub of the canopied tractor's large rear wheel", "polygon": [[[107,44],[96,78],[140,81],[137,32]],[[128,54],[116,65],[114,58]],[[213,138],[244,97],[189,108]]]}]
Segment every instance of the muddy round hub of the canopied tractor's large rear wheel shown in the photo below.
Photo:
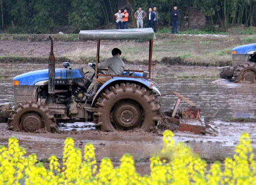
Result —
[{"label": "muddy round hub of the canopied tractor's large rear wheel", "polygon": [[120,128],[134,128],[141,123],[141,111],[136,103],[119,103],[113,114],[113,121]]}]

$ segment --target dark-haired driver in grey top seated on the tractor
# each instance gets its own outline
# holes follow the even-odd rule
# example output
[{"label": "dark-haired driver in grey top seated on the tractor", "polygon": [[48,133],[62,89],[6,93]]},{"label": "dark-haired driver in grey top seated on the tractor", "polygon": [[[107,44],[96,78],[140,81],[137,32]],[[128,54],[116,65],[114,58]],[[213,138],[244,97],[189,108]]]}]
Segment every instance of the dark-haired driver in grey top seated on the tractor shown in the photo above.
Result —
[{"label": "dark-haired driver in grey top seated on the tractor", "polygon": [[[108,74],[123,75],[124,63],[120,59],[122,51],[118,48],[112,50],[112,58],[106,59],[104,62],[98,63],[98,68],[103,69],[108,67]],[[97,78],[94,84],[94,94],[99,90],[99,88],[106,82],[108,82],[111,77]]]}]

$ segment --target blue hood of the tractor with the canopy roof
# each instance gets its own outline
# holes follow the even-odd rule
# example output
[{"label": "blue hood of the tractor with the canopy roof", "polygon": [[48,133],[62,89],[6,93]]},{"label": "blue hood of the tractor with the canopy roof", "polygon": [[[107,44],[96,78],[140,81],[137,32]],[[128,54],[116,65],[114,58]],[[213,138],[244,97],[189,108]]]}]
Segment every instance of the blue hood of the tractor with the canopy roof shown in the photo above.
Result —
[{"label": "blue hood of the tractor with the canopy roof", "polygon": [[[68,69],[68,68],[58,68],[55,69],[55,79],[73,79],[82,78],[82,68]],[[35,83],[40,81],[47,81],[49,78],[49,70],[37,70],[30,71],[24,74],[20,74],[13,78],[13,81],[18,81],[21,86],[34,86]]]}]

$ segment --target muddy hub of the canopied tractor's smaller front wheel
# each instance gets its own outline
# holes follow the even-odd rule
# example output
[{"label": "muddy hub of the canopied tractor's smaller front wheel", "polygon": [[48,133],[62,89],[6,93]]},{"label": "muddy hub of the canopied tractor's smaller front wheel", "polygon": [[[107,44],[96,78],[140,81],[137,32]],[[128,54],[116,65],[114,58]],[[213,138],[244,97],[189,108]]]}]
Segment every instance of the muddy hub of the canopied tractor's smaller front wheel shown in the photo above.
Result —
[{"label": "muddy hub of the canopied tractor's smaller front wheel", "polygon": [[29,113],[23,116],[21,126],[25,131],[35,132],[37,129],[41,128],[41,118],[38,114]]}]

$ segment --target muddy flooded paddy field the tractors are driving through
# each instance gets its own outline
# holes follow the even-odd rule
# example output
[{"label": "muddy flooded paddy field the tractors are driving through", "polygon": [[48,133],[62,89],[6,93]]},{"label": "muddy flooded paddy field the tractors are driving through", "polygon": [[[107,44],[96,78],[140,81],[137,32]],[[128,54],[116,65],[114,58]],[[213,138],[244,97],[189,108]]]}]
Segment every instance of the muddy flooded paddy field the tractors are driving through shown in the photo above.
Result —
[{"label": "muddy flooded paddy field the tractors are driving through", "polygon": [[[75,64],[72,67],[87,65]],[[61,67],[61,65],[57,65]],[[31,70],[48,68],[47,64],[20,64],[0,63],[0,103],[12,102],[12,78],[15,75]],[[146,69],[143,65],[129,65],[127,69]],[[92,72],[92,71],[91,71]],[[175,133],[175,140],[190,145],[191,148],[205,160],[212,162],[223,160],[233,155],[234,146],[239,142],[243,132],[250,134],[252,147],[256,153],[256,128],[253,122],[256,119],[256,84],[234,84],[219,80],[215,67],[199,66],[153,66],[154,81],[160,86],[162,94],[174,91],[195,102],[201,108],[202,116],[209,116],[219,111],[212,119],[219,133],[217,136],[194,135],[191,133]],[[162,96],[160,98],[162,111],[173,109],[177,100],[175,96]],[[187,106],[181,103],[180,107]],[[237,121],[248,119],[250,122]],[[81,133],[69,131],[67,134],[50,133],[21,133],[7,129],[6,124],[0,124],[0,144],[7,145],[8,138],[15,136],[21,146],[30,153],[36,153],[39,159],[56,154],[62,156],[63,141],[67,137],[75,139],[79,148],[87,142],[94,144],[97,161],[103,157],[110,157],[118,165],[124,153],[131,153],[136,162],[137,171],[141,174],[148,173],[149,158],[156,155],[161,149],[162,137],[154,133],[144,133],[141,130],[106,133],[95,130],[92,123],[63,124],[62,130],[83,130]],[[89,130],[88,130],[89,129]]]}]

